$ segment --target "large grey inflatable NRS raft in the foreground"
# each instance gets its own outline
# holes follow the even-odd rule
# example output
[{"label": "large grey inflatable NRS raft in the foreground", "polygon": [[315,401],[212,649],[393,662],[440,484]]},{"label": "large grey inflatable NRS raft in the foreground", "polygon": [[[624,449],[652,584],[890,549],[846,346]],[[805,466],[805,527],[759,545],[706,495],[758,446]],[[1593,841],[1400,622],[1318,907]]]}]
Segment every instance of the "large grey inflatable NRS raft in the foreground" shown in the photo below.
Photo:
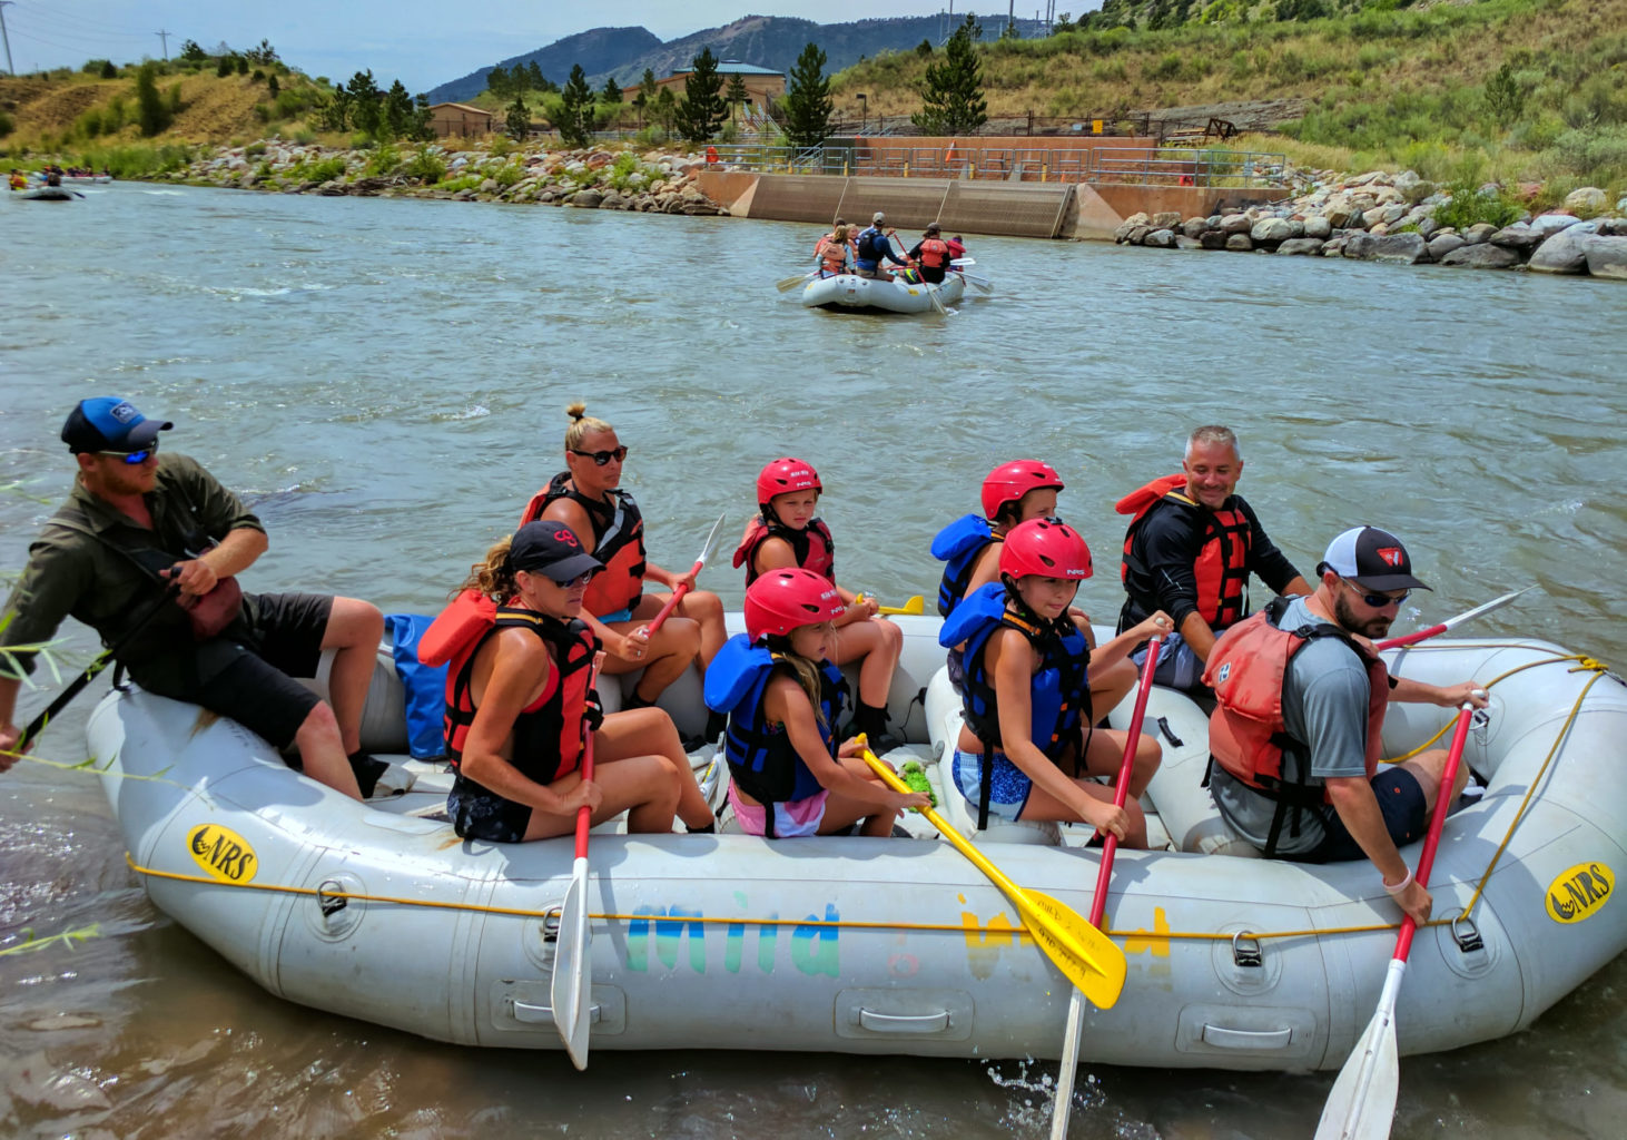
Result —
[{"label": "large grey inflatable NRS raft in the foreground", "polygon": [[[937,620],[900,624],[890,707],[931,762],[958,710]],[[1399,1047],[1417,1054],[1528,1026],[1627,946],[1627,902],[1614,899],[1627,686],[1544,642],[1427,642],[1389,661],[1425,681],[1474,677],[1492,697],[1464,754],[1484,793],[1446,821],[1430,884],[1450,922],[1419,933],[1401,992]],[[687,731],[696,684],[669,691]],[[617,697],[607,686],[607,707]],[[368,746],[403,748],[400,700],[381,668]],[[1386,756],[1451,715],[1393,707]],[[1373,1011],[1394,904],[1367,863],[1241,858],[1251,848],[1201,787],[1206,720],[1191,700],[1155,691],[1147,731],[1165,746],[1147,800],[1170,850],[1118,855],[1106,923],[1129,974],[1113,1008],[1087,1010],[1082,1055],[1337,1068]],[[449,780],[430,765],[405,796],[358,805],[236,723],[140,691],[109,694],[88,734],[153,902],[272,993],[439,1041],[561,1047],[550,912],[571,878],[569,837],[459,840],[438,818]],[[939,801],[968,822],[953,791]],[[1005,897],[911,821],[923,837],[595,832],[591,1047],[1058,1057],[1067,982]],[[1017,824],[979,847],[1019,884],[1088,914],[1098,855],[1080,831]]]}]

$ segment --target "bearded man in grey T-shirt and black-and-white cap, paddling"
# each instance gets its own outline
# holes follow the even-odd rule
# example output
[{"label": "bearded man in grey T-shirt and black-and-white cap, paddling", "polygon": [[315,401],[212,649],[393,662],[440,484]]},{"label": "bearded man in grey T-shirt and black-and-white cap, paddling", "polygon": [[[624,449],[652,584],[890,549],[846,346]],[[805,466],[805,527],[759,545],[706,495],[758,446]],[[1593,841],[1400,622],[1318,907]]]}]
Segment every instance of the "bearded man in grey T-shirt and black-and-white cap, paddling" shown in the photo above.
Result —
[{"label": "bearded man in grey T-shirt and black-and-white cap, paddling", "polygon": [[[1378,770],[1380,733],[1391,700],[1453,708],[1485,707],[1472,681],[1440,687],[1393,677],[1372,651],[1414,590],[1401,539],[1376,526],[1336,537],[1316,567],[1308,598],[1277,598],[1220,635],[1204,682],[1209,718],[1209,790],[1227,826],[1266,858],[1337,863],[1367,858],[1414,922],[1432,899],[1398,847],[1424,837],[1446,749],[1430,749]],[[1365,638],[1365,640],[1363,640]]]}]

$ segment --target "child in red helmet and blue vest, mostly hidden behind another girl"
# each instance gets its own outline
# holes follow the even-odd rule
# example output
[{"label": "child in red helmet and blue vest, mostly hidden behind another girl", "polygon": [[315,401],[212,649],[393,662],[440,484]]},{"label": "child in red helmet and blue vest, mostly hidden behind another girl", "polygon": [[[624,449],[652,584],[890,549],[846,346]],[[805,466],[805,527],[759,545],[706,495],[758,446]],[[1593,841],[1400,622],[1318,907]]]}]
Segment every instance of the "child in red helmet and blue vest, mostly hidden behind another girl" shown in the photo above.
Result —
[{"label": "child in red helmet and blue vest, mostly hidden behind another girl", "polygon": [[[1019,523],[1056,518],[1056,495],[1062,477],[1056,467],[1040,459],[1002,463],[983,480],[983,515],[963,515],[932,539],[932,557],[949,565],[937,586],[937,612],[949,617],[962,599],[970,598],[1001,577],[1001,542]],[[1087,575],[1088,577],[1088,575]],[[1092,650],[1097,647],[1090,616],[1069,606],[1067,616]],[[949,651],[949,679],[960,689],[963,677],[960,648]],[[1103,715],[1136,687],[1136,666],[1119,660],[1090,668],[1090,699]]]}]

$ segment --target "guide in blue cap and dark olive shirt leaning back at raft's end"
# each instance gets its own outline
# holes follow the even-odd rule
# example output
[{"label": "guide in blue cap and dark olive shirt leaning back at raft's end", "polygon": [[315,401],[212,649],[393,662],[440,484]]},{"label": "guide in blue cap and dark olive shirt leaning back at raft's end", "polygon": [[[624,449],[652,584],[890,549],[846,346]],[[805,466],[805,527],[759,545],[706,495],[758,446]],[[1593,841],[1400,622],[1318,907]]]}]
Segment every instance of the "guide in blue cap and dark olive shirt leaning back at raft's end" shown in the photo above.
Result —
[{"label": "guide in blue cap and dark olive shirt leaning back at raft's end", "polygon": [[[68,414],[62,441],[80,474],[29,547],[0,645],[49,642],[63,617],[76,617],[106,645],[130,638],[119,663],[145,691],[298,749],[304,774],[335,791],[353,800],[405,791],[405,770],[361,751],[384,616],[355,598],[242,593],[236,575],[265,552],[265,528],[197,461],[158,454],[158,433],[171,427],[116,396],[80,401]],[[179,590],[176,604],[161,603],[169,586]],[[332,705],[293,679],[314,677],[322,650],[335,651]],[[31,653],[13,656],[33,669]],[[11,723],[18,684],[0,676],[5,751],[20,736]],[[0,770],[13,759],[0,756]]]}]

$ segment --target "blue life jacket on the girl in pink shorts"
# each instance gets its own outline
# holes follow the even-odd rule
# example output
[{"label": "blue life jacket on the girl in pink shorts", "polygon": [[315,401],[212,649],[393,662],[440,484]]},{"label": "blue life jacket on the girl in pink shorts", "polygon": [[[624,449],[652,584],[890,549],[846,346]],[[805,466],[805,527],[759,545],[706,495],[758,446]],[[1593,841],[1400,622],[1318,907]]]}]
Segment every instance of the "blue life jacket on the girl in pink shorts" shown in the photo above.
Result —
[{"label": "blue life jacket on the girl in pink shorts", "polygon": [[[763,805],[768,837],[774,835],[774,803],[794,803],[817,795],[823,785],[809,770],[784,725],[770,726],[763,718],[763,694],[781,656],[766,647],[752,645],[745,634],[735,634],[706,666],[706,707],[729,713],[724,733],[724,759],[729,775],[748,796]],[[789,666],[786,666],[789,669]],[[830,661],[820,666],[820,738],[836,756],[836,721],[848,695],[848,682]]]}]

